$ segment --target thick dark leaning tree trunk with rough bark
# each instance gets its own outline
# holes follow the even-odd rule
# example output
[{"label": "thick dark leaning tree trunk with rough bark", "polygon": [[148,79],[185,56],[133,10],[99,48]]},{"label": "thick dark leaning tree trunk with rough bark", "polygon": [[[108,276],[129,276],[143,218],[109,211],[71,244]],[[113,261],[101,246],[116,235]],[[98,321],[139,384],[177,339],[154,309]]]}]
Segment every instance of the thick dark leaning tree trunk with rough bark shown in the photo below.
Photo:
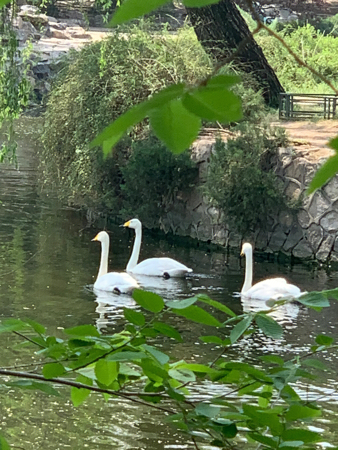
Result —
[{"label": "thick dark leaning tree trunk with rough bark", "polygon": [[187,8],[187,13],[198,40],[218,62],[239,48],[235,61],[240,69],[257,80],[266,103],[278,106],[279,92],[284,92],[283,86],[233,0],[221,0],[203,8]]}]

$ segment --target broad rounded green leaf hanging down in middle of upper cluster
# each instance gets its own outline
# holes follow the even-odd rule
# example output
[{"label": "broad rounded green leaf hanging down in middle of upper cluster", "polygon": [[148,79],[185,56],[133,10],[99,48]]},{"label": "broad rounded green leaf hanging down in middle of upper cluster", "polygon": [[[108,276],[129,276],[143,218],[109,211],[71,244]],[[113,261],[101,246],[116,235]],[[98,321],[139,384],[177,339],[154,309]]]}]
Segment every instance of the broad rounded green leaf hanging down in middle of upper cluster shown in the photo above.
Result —
[{"label": "broad rounded green leaf hanging down in middle of upper cluster", "polygon": [[173,153],[182,153],[198,136],[201,119],[189,112],[182,100],[171,100],[149,113],[155,135]]}]

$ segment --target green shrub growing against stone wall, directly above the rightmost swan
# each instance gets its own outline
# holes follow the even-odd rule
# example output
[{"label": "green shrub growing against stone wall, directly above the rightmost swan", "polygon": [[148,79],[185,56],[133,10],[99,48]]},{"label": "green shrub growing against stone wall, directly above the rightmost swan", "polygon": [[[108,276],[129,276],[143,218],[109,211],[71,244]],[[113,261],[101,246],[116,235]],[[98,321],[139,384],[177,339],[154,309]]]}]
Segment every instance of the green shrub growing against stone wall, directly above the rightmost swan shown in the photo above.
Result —
[{"label": "green shrub growing against stone wall, directly above the rightmost swan", "polygon": [[286,201],[271,170],[276,150],[285,144],[282,130],[243,124],[226,144],[216,141],[204,193],[220,207],[230,229],[240,234],[266,229],[268,216]]}]

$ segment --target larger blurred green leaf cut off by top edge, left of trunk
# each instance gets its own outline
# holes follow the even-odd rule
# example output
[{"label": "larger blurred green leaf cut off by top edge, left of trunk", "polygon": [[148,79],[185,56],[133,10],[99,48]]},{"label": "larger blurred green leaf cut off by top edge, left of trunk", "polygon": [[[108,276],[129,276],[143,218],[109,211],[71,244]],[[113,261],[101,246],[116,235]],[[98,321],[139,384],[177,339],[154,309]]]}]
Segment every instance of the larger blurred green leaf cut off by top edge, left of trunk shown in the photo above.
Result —
[{"label": "larger blurred green leaf cut off by top edge, left of trunk", "polygon": [[168,1],[169,0],[124,0],[116,10],[108,25],[110,27],[115,27],[120,23],[125,23],[131,19],[144,16],[144,14],[148,14],[154,9],[158,9],[163,4],[168,3]]}]

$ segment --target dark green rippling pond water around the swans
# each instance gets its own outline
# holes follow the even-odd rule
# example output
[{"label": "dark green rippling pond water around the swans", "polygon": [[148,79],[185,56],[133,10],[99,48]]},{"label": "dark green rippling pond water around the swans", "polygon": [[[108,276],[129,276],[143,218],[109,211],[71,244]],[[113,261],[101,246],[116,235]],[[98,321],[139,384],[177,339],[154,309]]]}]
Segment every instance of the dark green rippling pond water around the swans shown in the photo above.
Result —
[{"label": "dark green rippling pond water around the swans", "polygon": [[[92,289],[99,266],[100,248],[91,242],[103,224],[90,225],[86,215],[64,207],[50,192],[38,192],[35,149],[32,129],[36,120],[25,119],[20,128],[19,169],[0,166],[0,320],[30,318],[42,323],[50,334],[79,324],[94,324],[102,332],[113,332],[124,323],[123,306],[134,306],[127,296],[99,296]],[[125,218],[126,220],[129,217]],[[118,225],[107,227],[111,238],[109,267],[123,270],[133,243],[133,230]],[[226,255],[216,247],[196,242],[180,245],[169,236],[153,237],[144,232],[141,257],[170,255],[192,267],[194,272],[182,280],[157,278],[140,280],[144,288],[166,299],[191,297],[207,293],[235,312],[255,305],[243,305],[234,293],[243,284],[243,261],[239,255]],[[321,290],[338,286],[338,272],[292,267],[278,262],[258,261],[254,277],[260,279],[280,274],[303,290]],[[217,313],[216,313],[217,314]],[[285,328],[280,341],[260,334],[243,339],[231,354],[239,360],[253,360],[266,351],[281,356],[302,354],[318,333],[337,338],[338,305],[332,304],[321,313],[298,305],[289,305],[276,317]],[[198,341],[203,327],[184,319],[173,319],[185,343],[171,355],[202,362],[217,355],[217,348]],[[31,356],[21,340],[1,334],[0,366],[29,364]],[[167,342],[163,342],[167,346]],[[333,354],[324,355],[327,363],[337,367]],[[323,385],[310,387],[298,383],[297,390],[324,402],[325,415],[313,426],[323,431],[323,441],[338,445],[336,376]],[[0,391],[0,433],[9,443],[23,449],[192,449],[184,435],[162,424],[161,414],[144,406],[91,395],[80,407],[69,400],[69,389],[59,388],[60,397],[40,392],[6,389]],[[196,397],[215,393],[217,387],[207,383],[196,387]],[[314,429],[314,428],[311,428]],[[325,443],[323,446],[327,446]]]}]

